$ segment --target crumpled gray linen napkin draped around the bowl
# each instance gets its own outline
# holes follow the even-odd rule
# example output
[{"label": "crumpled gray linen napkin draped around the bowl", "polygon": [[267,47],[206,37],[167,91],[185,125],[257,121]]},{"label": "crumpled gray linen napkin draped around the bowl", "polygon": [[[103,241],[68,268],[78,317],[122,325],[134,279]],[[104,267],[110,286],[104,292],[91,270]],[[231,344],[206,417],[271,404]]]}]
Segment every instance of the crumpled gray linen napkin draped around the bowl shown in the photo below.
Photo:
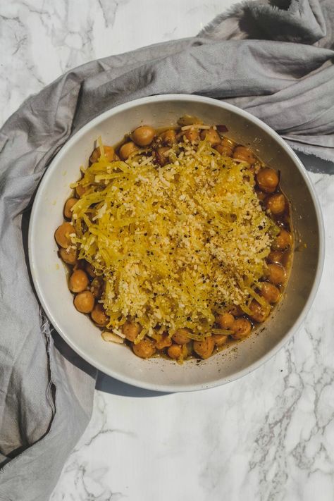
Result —
[{"label": "crumpled gray linen napkin draped around the bowl", "polygon": [[1,129],[1,500],[47,500],[92,412],[96,371],[52,332],[30,283],[27,220],[49,161],[99,113],[168,92],[233,102],[334,161],[333,0],[287,5],[240,4],[193,39],[70,70]]}]

